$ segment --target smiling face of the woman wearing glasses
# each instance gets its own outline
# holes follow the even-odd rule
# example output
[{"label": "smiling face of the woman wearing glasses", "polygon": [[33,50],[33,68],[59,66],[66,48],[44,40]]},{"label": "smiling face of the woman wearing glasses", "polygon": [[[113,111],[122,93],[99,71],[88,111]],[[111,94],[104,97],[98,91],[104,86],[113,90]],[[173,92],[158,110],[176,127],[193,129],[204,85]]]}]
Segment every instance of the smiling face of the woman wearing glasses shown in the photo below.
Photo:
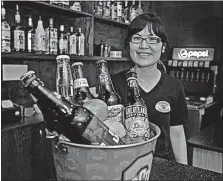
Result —
[{"label": "smiling face of the woman wearing glasses", "polygon": [[[147,37],[155,37],[155,39],[159,38],[153,32],[152,27],[149,28],[149,26],[146,26],[142,31],[134,34],[132,39],[134,38],[136,41],[138,41],[140,38]],[[150,44],[147,43],[145,39],[143,39],[141,43],[133,43],[130,41],[129,46],[130,56],[133,62],[139,67],[147,67],[156,64],[160,59],[163,47],[161,41]]]}]

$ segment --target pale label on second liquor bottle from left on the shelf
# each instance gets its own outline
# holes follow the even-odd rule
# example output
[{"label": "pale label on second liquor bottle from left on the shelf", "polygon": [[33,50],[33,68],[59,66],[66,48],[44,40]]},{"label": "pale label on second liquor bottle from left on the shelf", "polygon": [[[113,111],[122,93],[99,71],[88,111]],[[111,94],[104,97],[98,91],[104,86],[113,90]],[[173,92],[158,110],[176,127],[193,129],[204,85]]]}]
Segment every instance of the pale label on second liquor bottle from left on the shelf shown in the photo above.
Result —
[{"label": "pale label on second liquor bottle from left on the shelf", "polygon": [[25,50],[25,33],[23,30],[14,31],[14,48],[16,50]]}]

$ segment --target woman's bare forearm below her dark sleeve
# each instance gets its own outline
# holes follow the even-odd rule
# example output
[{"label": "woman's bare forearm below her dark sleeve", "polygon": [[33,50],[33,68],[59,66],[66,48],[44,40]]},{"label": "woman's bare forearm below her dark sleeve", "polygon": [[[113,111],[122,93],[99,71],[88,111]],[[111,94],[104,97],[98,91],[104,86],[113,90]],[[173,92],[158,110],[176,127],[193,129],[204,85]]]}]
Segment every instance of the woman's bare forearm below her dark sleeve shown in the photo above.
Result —
[{"label": "woman's bare forearm below her dark sleeve", "polygon": [[187,165],[187,145],[183,125],[170,126],[170,142],[176,162]]}]

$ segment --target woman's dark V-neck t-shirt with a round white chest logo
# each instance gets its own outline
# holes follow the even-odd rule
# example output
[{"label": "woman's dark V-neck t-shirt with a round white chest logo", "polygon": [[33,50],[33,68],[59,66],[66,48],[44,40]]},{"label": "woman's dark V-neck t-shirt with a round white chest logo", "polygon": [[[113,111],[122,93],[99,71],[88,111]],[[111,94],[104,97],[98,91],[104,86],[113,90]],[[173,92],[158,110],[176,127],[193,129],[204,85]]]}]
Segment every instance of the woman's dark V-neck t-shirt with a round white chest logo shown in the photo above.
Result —
[{"label": "woman's dark V-neck t-shirt with a round white chest logo", "polygon": [[[127,90],[126,72],[127,70],[112,76],[114,88],[121,96],[123,104]],[[188,120],[186,100],[180,81],[162,72],[160,80],[151,91],[147,93],[140,87],[140,93],[147,106],[149,121],[161,129],[155,155],[174,160],[170,126],[184,125]]]}]

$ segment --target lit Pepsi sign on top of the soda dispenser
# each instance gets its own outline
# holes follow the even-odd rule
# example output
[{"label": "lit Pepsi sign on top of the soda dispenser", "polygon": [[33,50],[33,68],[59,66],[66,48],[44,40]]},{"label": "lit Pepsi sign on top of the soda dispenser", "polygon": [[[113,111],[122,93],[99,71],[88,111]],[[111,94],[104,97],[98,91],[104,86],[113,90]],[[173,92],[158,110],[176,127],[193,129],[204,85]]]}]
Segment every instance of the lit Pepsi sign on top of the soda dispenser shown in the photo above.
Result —
[{"label": "lit Pepsi sign on top of the soda dispenser", "polygon": [[214,60],[214,48],[174,48],[175,60]]}]

